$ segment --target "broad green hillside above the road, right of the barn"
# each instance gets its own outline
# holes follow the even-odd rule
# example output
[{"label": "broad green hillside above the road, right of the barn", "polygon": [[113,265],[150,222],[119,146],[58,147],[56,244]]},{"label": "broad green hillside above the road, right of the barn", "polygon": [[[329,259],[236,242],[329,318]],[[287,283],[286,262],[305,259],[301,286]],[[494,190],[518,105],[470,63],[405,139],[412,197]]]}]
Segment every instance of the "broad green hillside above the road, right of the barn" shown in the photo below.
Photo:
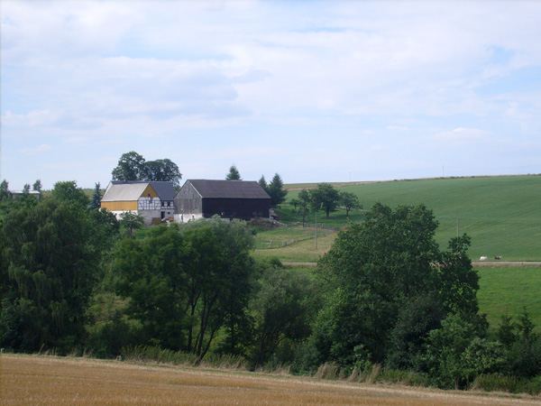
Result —
[{"label": "broad green hillside above the road, right of the barn", "polygon": [[[508,261],[541,259],[541,176],[501,176],[490,178],[457,178],[435,180],[398,180],[367,184],[337,184],[340,190],[357,195],[364,208],[376,201],[393,208],[424,203],[432,208],[440,226],[436,239],[446,247],[456,235],[457,219],[461,234],[472,237],[472,259],[481,255],[501,255]],[[288,185],[288,200],[296,198],[298,189],[314,184]],[[280,215],[285,221],[298,217],[284,205]],[[344,211],[318,221],[345,224]],[[354,221],[361,212],[350,214]],[[314,215],[309,221],[315,220]]]}]

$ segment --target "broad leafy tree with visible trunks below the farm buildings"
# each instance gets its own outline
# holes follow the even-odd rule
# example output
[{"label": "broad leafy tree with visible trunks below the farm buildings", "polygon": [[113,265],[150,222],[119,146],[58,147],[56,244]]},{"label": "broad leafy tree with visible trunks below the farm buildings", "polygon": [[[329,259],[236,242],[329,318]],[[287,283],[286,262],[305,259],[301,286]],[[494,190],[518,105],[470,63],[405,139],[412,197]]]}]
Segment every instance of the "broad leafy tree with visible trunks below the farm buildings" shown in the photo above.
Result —
[{"label": "broad leafy tree with visible trunks below the farm buildings", "polygon": [[218,218],[155,227],[143,240],[121,242],[117,289],[131,299],[129,314],[145,337],[160,346],[202,358],[225,328],[225,347],[235,352],[249,318],[251,247],[244,226]]}]

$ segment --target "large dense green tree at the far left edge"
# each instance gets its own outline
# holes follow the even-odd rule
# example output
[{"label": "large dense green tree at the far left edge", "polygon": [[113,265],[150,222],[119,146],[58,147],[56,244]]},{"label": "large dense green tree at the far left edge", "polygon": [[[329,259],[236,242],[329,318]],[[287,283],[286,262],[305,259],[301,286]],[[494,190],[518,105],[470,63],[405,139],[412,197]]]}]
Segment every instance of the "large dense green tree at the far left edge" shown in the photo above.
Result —
[{"label": "large dense green tree at the far left edge", "polygon": [[91,229],[86,208],[56,198],[5,216],[0,345],[65,352],[82,341],[99,263]]}]

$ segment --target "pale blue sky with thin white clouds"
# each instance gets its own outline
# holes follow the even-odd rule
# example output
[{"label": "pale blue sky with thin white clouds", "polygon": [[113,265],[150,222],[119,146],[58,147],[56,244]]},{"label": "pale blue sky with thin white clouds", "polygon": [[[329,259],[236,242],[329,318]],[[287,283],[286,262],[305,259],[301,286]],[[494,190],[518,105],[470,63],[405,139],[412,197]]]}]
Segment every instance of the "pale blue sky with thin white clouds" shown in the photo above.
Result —
[{"label": "pale blue sky with thin white clouds", "polygon": [[541,173],[539,1],[2,0],[0,179]]}]

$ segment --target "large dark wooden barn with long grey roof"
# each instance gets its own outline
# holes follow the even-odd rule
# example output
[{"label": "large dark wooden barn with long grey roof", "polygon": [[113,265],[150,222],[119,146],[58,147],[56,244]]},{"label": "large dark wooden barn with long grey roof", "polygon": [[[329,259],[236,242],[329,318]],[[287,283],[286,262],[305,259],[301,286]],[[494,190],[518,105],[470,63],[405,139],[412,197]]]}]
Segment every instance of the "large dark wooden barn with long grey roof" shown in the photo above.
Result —
[{"label": "large dark wooden barn with long grey roof", "polygon": [[175,196],[175,221],[269,217],[271,197],[256,181],[187,180]]}]

